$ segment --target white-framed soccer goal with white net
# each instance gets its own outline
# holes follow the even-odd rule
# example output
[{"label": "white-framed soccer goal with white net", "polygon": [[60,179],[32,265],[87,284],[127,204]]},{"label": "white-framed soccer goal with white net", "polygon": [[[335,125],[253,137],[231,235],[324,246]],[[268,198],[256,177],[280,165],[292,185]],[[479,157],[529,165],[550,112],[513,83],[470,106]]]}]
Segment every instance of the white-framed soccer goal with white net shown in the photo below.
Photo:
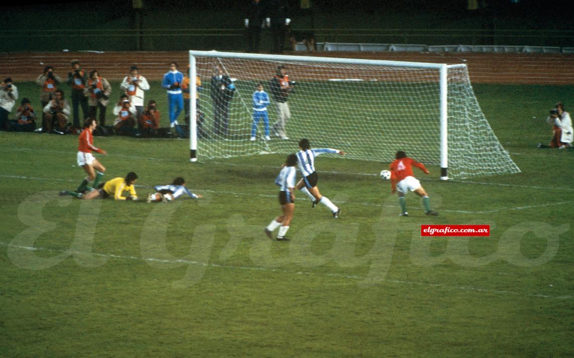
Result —
[{"label": "white-framed soccer goal with white net", "polygon": [[[294,153],[298,140],[308,138],[313,147],[346,151],[340,158],[390,162],[404,150],[440,165],[443,180],[520,172],[480,110],[465,64],[215,51],[189,51],[189,64],[191,98],[197,98],[189,102],[197,114],[189,126],[191,161]],[[273,131],[278,116],[270,80],[279,65],[295,82],[289,139]],[[232,85],[214,79],[219,75]],[[270,96],[270,141],[263,121],[250,140],[258,83]]]}]

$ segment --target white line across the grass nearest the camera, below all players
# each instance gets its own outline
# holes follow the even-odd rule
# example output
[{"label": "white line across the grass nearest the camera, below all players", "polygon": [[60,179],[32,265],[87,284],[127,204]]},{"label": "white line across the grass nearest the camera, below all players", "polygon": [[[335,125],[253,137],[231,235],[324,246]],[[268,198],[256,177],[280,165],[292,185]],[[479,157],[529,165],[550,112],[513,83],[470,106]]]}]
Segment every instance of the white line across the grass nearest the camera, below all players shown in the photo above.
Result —
[{"label": "white line across the grass nearest the camera, below all players", "polygon": [[[357,276],[357,275],[344,275],[344,274],[333,274],[333,273],[312,273],[312,272],[304,272],[304,271],[285,271],[285,270],[278,270],[277,268],[266,268],[266,267],[257,267],[257,266],[236,266],[236,265],[224,265],[224,264],[217,264],[217,263],[204,263],[204,262],[197,262],[192,260],[186,259],[176,259],[176,260],[169,260],[169,259],[158,259],[158,258],[141,258],[138,256],[126,256],[126,255],[115,255],[115,254],[99,254],[98,252],[79,252],[79,251],[61,251],[61,250],[54,250],[52,248],[44,248],[44,247],[29,247],[29,246],[18,246],[12,245],[5,242],[0,242],[1,245],[6,247],[13,247],[13,248],[20,248],[22,250],[29,250],[29,251],[48,251],[48,252],[55,252],[57,254],[70,254],[70,255],[92,255],[98,256],[103,258],[112,258],[112,259],[124,259],[124,260],[137,260],[137,261],[149,261],[149,262],[163,262],[163,263],[185,263],[185,264],[193,264],[196,266],[204,266],[204,267],[216,267],[216,268],[228,268],[232,270],[249,270],[249,271],[265,271],[270,273],[280,273],[280,274],[290,274],[290,275],[309,275],[309,276],[323,276],[323,277],[336,277],[336,278],[346,278],[346,279],[358,279],[364,280],[366,278]],[[451,285],[440,285],[439,283],[427,283],[427,282],[416,282],[416,281],[402,281],[402,280],[394,280],[394,279],[382,279],[381,282],[387,283],[396,283],[398,285],[416,285],[416,286],[429,286],[429,287],[436,287],[437,289],[452,289],[452,290],[461,290],[461,291],[474,291],[478,293],[495,293],[495,294],[502,294],[502,295],[522,295],[522,296],[529,296],[529,297],[539,297],[539,298],[554,298],[554,299],[570,299],[572,295],[560,295],[560,296],[552,296],[552,295],[544,295],[544,294],[536,294],[536,293],[521,293],[515,291],[507,291],[507,290],[492,290],[492,289],[482,289],[479,287],[470,287],[470,286],[451,286]]]}]

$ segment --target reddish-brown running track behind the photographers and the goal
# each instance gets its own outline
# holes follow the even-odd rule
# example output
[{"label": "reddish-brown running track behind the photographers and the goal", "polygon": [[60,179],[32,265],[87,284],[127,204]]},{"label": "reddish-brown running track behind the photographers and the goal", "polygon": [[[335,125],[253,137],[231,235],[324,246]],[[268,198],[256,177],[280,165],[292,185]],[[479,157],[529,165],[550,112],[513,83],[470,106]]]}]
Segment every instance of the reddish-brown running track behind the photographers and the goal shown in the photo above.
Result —
[{"label": "reddish-brown running track behind the photographers and the goal", "polygon": [[[308,55],[308,53],[292,53]],[[315,52],[327,57],[358,57],[393,61],[416,61],[468,66],[472,83],[574,84],[574,55],[537,53],[422,53],[422,52]],[[28,52],[0,53],[0,79],[15,83],[33,81],[45,65],[64,77],[73,59],[86,69],[99,69],[108,80],[122,80],[135,64],[149,80],[161,80],[169,61],[187,64],[187,52]],[[183,66],[180,66],[183,67]],[[184,67],[183,67],[184,68]]]}]

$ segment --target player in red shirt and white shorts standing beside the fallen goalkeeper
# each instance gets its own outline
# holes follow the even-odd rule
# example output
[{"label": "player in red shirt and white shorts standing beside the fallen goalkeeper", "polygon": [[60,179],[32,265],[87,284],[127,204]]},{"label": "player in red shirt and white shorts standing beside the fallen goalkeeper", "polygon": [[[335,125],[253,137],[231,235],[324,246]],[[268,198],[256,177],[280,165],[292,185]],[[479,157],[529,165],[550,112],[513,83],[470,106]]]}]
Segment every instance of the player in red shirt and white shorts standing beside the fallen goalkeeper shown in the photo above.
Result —
[{"label": "player in red shirt and white shorts standing beside the fallen goalkeeper", "polygon": [[[92,180],[94,180],[92,187],[96,188],[106,171],[106,168],[104,168],[98,159],[94,158],[94,155],[92,155],[92,151],[97,151],[100,154],[107,155],[105,150],[94,146],[94,137],[92,136],[92,133],[94,133],[97,126],[98,122],[96,122],[95,118],[86,119],[86,122],[84,122],[84,130],[80,133],[78,138],[77,165],[84,168],[84,171],[88,174],[88,176],[82,181],[82,184],[80,184],[76,189],[76,192],[79,193],[86,190],[88,182]],[[96,173],[95,170],[98,172]]]}]

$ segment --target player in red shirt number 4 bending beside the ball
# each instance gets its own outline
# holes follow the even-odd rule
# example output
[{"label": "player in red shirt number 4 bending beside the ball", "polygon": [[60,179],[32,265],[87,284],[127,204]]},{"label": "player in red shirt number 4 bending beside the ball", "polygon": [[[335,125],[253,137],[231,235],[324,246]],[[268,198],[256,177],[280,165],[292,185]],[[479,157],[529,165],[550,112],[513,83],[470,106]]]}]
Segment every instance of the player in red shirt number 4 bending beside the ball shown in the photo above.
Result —
[{"label": "player in red shirt number 4 bending beside the ball", "polygon": [[422,170],[425,174],[429,171],[424,164],[417,162],[413,158],[406,156],[402,150],[397,151],[395,160],[389,165],[391,172],[391,193],[394,194],[398,190],[398,202],[401,204],[401,216],[409,216],[406,211],[405,194],[410,190],[415,192],[418,196],[422,197],[422,204],[425,206],[426,215],[436,216],[439,215],[436,211],[430,210],[430,200],[425,189],[422,188],[421,182],[413,175],[413,165]]}]

